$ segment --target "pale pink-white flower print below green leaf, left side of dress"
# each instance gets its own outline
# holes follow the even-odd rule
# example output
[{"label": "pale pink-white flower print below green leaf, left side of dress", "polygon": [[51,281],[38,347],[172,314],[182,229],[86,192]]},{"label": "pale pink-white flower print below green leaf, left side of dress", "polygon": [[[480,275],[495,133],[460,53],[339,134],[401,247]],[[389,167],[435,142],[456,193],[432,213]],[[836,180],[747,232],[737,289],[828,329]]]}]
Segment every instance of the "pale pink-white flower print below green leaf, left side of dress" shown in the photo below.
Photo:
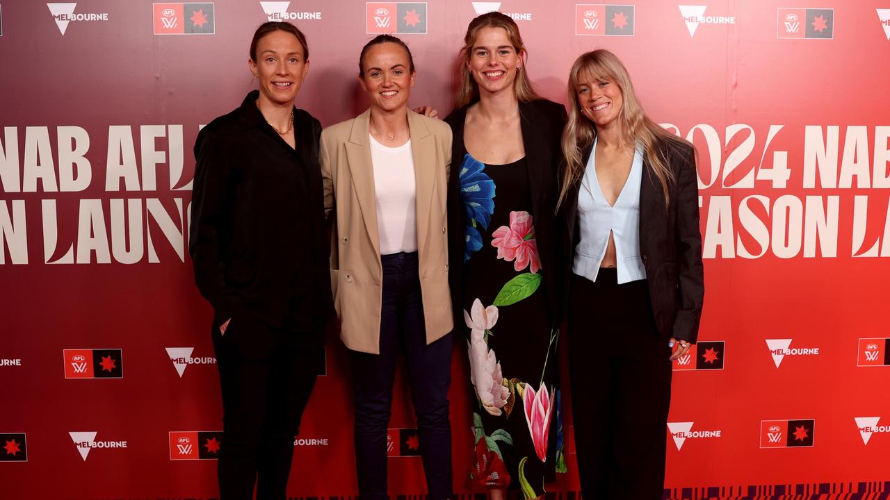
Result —
[{"label": "pale pink-white flower print below green leaf, left side of dress", "polygon": [[476,299],[473,301],[472,315],[464,310],[464,320],[466,326],[471,328],[470,341],[466,343],[470,354],[470,382],[485,411],[490,415],[501,415],[500,408],[506,405],[510,389],[504,385],[504,375],[495,351],[491,351],[485,342],[485,331],[498,322],[498,308],[490,305],[483,309],[482,302]]}]

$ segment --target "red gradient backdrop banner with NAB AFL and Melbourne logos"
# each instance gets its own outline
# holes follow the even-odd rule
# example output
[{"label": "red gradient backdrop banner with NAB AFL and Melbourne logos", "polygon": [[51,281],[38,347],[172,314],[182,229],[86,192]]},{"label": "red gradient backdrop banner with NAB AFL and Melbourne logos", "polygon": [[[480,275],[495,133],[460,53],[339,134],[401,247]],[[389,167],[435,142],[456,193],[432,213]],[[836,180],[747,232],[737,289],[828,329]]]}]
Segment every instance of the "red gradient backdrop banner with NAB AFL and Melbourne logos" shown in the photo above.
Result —
[{"label": "red gradient backdrop banner with NAB AFL and Melbourne logos", "polygon": [[[306,33],[297,105],[331,125],[367,106],[357,60],[377,33],[414,52],[411,105],[447,114],[465,27],[494,9],[522,29],[540,93],[565,102],[572,60],[608,48],[651,117],[699,151],[707,294],[700,343],[675,366],[666,496],[886,488],[890,1],[0,0],[0,497],[216,495],[225,437],[187,252],[191,146],[255,88],[261,22]],[[471,392],[455,354],[463,495]],[[336,335],[327,356],[292,496],[356,494]],[[419,495],[403,382],[390,485]],[[567,498],[569,403],[562,391],[568,472],[550,488]]]}]

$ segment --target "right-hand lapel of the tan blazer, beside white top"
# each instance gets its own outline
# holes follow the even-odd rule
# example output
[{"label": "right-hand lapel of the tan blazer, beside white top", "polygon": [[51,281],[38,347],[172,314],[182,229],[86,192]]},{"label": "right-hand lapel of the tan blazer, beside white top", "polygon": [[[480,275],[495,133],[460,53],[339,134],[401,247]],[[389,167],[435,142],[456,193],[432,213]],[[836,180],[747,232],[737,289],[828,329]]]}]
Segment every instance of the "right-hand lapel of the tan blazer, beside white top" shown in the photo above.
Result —
[{"label": "right-hand lapel of the tan blazer, beside white top", "polygon": [[[411,156],[414,159],[417,251],[423,255],[426,232],[430,226],[429,217],[433,213],[431,205],[436,180],[436,144],[430,129],[414,111],[408,112],[408,126],[411,134]],[[444,207],[441,210],[444,211]]]}]

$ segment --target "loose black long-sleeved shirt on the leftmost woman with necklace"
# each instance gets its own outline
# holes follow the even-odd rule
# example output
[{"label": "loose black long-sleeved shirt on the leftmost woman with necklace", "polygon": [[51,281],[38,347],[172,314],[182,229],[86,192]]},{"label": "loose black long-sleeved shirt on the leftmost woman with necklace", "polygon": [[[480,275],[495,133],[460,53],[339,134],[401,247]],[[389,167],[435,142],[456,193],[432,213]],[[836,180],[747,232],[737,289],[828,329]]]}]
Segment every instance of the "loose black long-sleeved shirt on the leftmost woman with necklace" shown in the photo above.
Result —
[{"label": "loose black long-sleeved shirt on the leftmost woman with necklace", "polygon": [[[333,316],[324,223],[321,125],[294,109],[296,149],[247,94],[195,142],[189,253],[214,326],[251,314],[321,342]],[[261,342],[261,339],[255,339]]]}]

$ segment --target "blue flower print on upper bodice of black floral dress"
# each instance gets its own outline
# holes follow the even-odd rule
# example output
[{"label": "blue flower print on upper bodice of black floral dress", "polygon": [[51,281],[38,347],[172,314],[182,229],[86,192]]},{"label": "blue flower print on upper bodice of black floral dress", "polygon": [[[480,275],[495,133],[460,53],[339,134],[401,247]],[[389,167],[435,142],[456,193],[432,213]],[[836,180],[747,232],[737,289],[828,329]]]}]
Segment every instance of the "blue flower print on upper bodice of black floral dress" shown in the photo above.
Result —
[{"label": "blue flower print on upper bodice of black floral dress", "polygon": [[466,207],[464,262],[470,259],[471,252],[476,252],[482,247],[478,227],[487,230],[491,214],[495,212],[495,182],[484,170],[485,164],[465,154],[457,176],[460,182],[460,198]]}]

